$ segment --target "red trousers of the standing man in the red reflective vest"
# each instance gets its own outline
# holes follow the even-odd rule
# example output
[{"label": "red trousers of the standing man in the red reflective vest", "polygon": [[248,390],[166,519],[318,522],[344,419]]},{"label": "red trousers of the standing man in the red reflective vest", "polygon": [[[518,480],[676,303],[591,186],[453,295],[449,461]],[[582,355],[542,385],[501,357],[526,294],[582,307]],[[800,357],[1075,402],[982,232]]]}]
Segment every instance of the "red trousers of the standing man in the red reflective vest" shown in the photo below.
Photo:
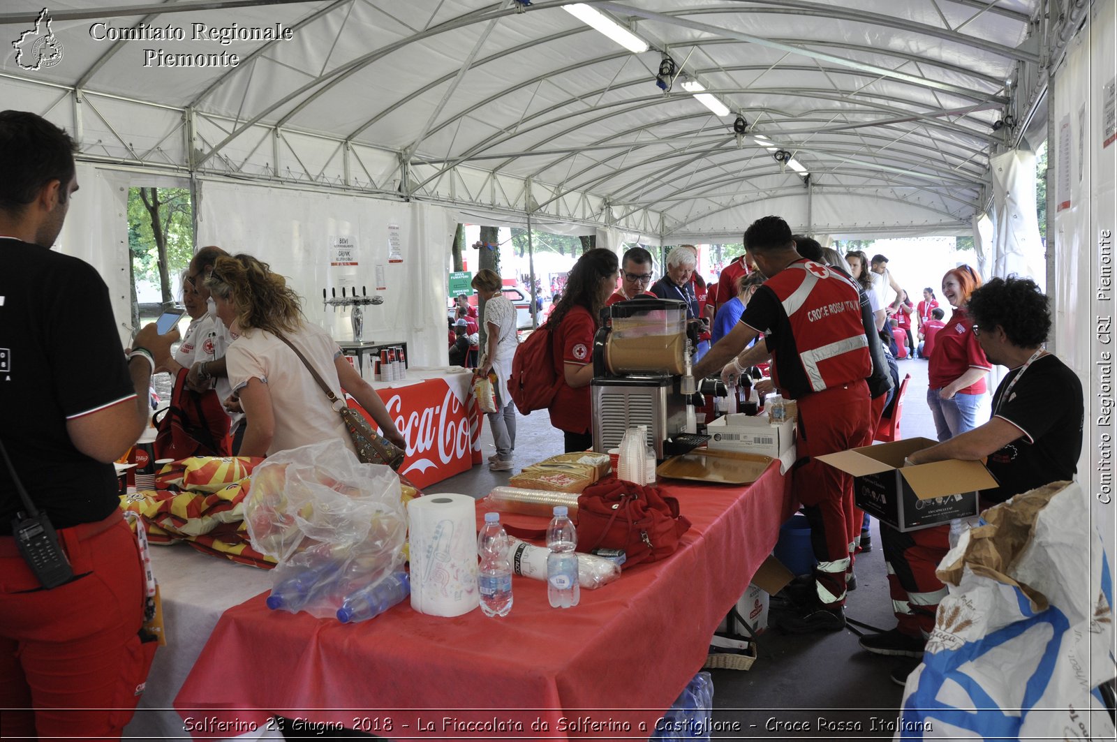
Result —
[{"label": "red trousers of the standing man in the red reflective vest", "polygon": [[[852,569],[849,523],[853,478],[814,457],[863,444],[869,427],[869,387],[858,381],[796,401],[796,453],[801,460],[808,460],[795,469],[792,486],[811,523],[811,545],[819,560],[814,569],[819,601],[827,608],[839,608],[846,603],[846,574]],[[857,527],[860,535],[860,523]]]}]

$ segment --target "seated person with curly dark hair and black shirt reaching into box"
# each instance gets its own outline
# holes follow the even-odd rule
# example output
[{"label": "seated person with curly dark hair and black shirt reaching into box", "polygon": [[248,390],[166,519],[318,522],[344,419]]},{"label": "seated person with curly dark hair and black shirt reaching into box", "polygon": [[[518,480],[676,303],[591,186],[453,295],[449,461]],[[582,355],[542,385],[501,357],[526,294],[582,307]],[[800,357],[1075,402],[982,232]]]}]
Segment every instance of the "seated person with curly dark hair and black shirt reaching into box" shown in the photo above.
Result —
[{"label": "seated person with curly dark hair and black shirt reaching into box", "polygon": [[[1062,361],[1043,350],[1051,330],[1047,297],[1030,278],[993,278],[970,296],[974,334],[992,363],[1011,371],[993,396],[985,425],[908,457],[911,464],[949,458],[978,460],[1000,484],[981,493],[983,506],[1051,482],[1072,479],[1082,450],[1082,383]],[[1058,390],[1059,402],[1051,403]],[[948,525],[900,533],[880,524],[896,628],[861,637],[861,647],[879,655],[923,656],[935,627],[935,611],[946,587],[935,568],[948,549]],[[904,685],[915,666],[892,672]]]}]

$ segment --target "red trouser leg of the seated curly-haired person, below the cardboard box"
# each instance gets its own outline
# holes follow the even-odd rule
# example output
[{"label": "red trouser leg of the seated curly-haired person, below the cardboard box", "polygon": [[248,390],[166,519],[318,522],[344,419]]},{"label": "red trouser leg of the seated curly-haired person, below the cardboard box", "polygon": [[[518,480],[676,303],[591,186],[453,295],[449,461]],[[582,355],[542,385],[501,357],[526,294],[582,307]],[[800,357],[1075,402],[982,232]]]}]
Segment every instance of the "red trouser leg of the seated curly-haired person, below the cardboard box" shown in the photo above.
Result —
[{"label": "red trouser leg of the seated curly-haired person, below the cardboard box", "polygon": [[935,611],[946,597],[946,586],[935,577],[935,568],[949,551],[949,523],[906,533],[880,524],[892,612],[896,628],[904,634],[926,638],[935,628]]}]

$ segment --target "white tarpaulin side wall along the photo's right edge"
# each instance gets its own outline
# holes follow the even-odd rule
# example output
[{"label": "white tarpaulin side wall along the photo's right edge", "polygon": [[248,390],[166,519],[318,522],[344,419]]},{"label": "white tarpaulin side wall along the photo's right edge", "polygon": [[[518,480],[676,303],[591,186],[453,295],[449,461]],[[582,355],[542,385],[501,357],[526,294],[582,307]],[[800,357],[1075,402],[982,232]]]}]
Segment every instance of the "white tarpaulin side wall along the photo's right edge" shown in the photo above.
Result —
[{"label": "white tarpaulin side wall along the photo's right edge", "polygon": [[[1114,297],[1101,280],[1113,277],[1115,219],[1114,0],[1095,3],[1086,26],[1071,40],[1053,82],[1056,137],[1048,142],[1053,163],[1056,269],[1054,306],[1058,354],[1082,380],[1086,421],[1078,476],[1094,500],[1095,516],[1114,554],[1114,438],[1102,400],[1113,400]],[[1108,143],[1107,143],[1108,141]],[[1104,291],[1099,291],[1104,289]],[[1099,295],[1106,296],[1099,299]],[[1110,362],[1106,364],[1106,355]],[[1052,403],[1058,403],[1052,390]],[[1111,411],[1113,408],[1108,407]],[[1102,424],[1099,424],[1099,417]],[[1109,501],[1109,502],[1105,502]],[[1110,564],[1110,569],[1114,565]]]}]

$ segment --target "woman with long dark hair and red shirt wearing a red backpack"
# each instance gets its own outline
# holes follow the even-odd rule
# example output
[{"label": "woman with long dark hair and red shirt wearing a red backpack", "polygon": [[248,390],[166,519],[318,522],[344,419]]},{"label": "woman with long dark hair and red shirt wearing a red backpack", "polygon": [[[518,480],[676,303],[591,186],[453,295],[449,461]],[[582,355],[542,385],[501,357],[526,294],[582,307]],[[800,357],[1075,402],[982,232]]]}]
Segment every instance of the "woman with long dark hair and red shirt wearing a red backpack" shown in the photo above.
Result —
[{"label": "woman with long dark hair and red shirt wearing a red backpack", "polygon": [[594,248],[577,259],[566,289],[547,321],[558,388],[551,401],[551,425],[563,431],[565,451],[593,445],[590,382],[593,381],[593,335],[605,299],[617,285],[617,254]]}]

